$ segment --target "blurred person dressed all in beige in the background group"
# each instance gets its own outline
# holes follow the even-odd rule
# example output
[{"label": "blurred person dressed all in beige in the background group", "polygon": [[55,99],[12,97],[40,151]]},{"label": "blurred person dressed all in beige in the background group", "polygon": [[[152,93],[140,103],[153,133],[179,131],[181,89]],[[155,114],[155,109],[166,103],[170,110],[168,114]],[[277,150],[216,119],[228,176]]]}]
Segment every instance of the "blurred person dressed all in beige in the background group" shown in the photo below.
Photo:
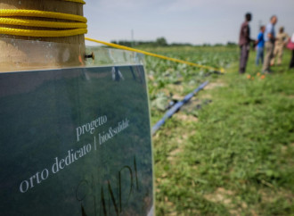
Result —
[{"label": "blurred person dressed all in beige in the background group", "polygon": [[282,50],[285,45],[287,45],[287,42],[289,40],[289,35],[284,32],[284,28],[281,27],[279,29],[279,33],[275,37],[275,42],[274,42],[274,56],[271,60],[271,66],[274,65],[274,60],[276,57],[278,57],[278,65],[282,64]]}]

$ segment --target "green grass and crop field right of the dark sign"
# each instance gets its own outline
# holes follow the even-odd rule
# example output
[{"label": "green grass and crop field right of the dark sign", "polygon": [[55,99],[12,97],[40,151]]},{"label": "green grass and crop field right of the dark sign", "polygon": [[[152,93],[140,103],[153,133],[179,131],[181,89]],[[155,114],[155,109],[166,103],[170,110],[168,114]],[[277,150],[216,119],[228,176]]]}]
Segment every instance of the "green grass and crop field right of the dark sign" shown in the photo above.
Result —
[{"label": "green grass and crop field right of the dark sign", "polygon": [[[290,52],[261,79],[236,47],[149,50],[224,66],[225,75],[147,58],[154,124],[170,100],[210,84],[153,137],[157,215],[294,215],[294,70]],[[250,79],[248,79],[250,75]],[[259,75],[259,76],[258,76]],[[252,79],[253,77],[253,79]]]}]

